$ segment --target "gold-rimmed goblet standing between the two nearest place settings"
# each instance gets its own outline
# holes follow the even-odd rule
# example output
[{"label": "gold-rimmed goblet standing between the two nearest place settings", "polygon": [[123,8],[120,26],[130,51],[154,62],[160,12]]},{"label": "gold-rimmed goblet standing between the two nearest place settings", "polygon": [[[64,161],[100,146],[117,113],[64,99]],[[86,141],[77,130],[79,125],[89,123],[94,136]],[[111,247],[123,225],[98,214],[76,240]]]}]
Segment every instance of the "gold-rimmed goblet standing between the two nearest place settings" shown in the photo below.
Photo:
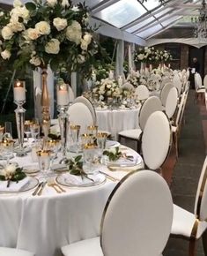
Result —
[{"label": "gold-rimmed goblet standing between the two nearest place settings", "polygon": [[41,169],[41,173],[47,179],[48,172],[50,171],[50,160],[51,160],[51,151],[48,149],[41,149],[36,152],[39,168]]}]

